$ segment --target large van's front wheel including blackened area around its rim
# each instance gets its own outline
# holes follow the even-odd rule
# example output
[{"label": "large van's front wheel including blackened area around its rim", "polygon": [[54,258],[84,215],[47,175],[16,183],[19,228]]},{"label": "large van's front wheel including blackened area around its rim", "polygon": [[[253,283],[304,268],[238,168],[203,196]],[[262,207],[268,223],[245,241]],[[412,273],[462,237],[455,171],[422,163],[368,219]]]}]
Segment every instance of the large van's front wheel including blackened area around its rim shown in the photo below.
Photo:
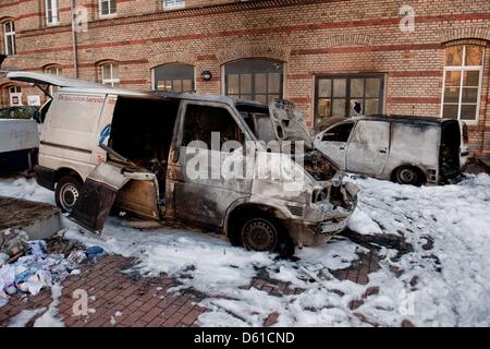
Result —
[{"label": "large van's front wheel including blackened area around its rim", "polygon": [[241,232],[242,243],[247,250],[294,254],[289,234],[274,217],[265,214],[249,216],[243,220]]}]

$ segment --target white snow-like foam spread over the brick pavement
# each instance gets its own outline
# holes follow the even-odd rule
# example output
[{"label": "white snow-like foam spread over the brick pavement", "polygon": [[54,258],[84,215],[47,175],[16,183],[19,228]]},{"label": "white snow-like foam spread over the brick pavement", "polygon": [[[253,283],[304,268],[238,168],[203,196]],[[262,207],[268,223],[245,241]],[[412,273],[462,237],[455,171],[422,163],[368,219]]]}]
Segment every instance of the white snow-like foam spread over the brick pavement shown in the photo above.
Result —
[{"label": "white snow-like foam spread over the brick pavement", "polygon": [[[135,269],[143,275],[163,272],[177,278],[183,288],[206,293],[203,305],[210,311],[200,315],[203,325],[261,326],[275,312],[279,326],[367,325],[354,313],[384,326],[400,326],[403,320],[428,326],[489,326],[490,177],[470,176],[457,184],[427,188],[354,181],[363,190],[350,228],[363,234],[404,236],[414,250],[396,256],[397,251],[382,248],[381,268],[369,274],[365,286],[333,277],[321,284],[306,280],[305,268],[311,265],[345,268],[357,258],[356,253],[366,251],[343,238],[305,248],[297,252],[298,262],[286,262],[275,261],[273,254],[233,248],[216,234],[170,228],[138,230],[118,218],[106,222],[103,240],[83,234],[69,220],[66,237],[136,257]],[[53,194],[33,180],[0,180],[0,195],[53,203]],[[403,269],[400,277],[390,266]],[[274,297],[241,288],[259,268],[305,291]],[[379,287],[379,293],[351,310],[348,303],[360,299],[369,287]]]}]

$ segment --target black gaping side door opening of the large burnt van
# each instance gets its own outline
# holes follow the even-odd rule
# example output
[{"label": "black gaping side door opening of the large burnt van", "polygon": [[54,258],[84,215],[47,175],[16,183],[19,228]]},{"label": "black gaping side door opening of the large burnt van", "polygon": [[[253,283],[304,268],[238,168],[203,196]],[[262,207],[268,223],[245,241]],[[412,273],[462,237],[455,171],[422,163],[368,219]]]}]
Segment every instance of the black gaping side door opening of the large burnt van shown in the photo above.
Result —
[{"label": "black gaping side door opening of the large burnt van", "polygon": [[169,151],[179,100],[120,97],[115,105],[109,146],[138,167],[157,174],[164,195]]}]

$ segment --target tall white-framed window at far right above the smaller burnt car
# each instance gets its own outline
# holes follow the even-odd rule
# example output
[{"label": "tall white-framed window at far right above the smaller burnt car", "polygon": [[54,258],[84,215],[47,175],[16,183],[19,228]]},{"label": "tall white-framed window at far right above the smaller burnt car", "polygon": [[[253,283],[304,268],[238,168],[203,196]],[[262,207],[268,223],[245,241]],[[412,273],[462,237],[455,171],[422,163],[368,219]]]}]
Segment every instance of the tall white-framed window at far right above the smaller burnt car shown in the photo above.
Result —
[{"label": "tall white-framed window at far right above the smaller burnt car", "polygon": [[479,45],[457,45],[445,49],[443,118],[477,121],[483,53],[483,47]]}]

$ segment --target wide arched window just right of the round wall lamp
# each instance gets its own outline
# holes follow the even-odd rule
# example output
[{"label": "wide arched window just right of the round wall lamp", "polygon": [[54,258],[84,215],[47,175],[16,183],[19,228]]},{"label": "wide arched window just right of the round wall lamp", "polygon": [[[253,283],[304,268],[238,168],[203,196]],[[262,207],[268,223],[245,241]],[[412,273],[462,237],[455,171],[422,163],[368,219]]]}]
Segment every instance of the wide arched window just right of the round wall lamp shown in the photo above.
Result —
[{"label": "wide arched window just right of the round wall lamp", "polygon": [[226,96],[270,104],[282,98],[283,63],[270,59],[249,58],[224,65]]}]

